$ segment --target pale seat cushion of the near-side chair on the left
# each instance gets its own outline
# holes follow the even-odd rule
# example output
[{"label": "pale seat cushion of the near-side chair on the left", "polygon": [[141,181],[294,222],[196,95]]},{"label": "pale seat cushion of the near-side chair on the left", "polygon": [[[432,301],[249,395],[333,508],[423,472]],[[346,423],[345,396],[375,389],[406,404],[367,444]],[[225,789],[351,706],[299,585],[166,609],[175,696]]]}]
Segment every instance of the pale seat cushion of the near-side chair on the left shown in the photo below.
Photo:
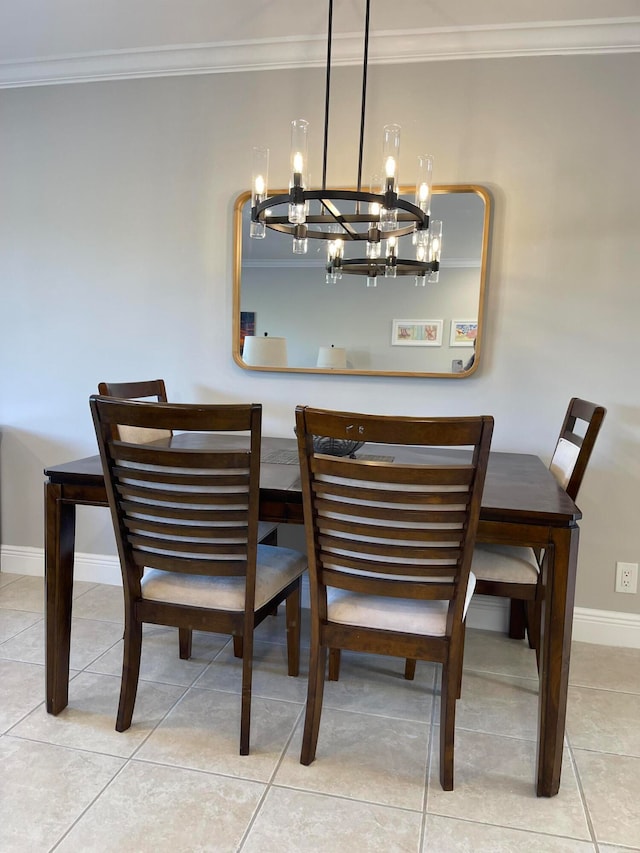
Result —
[{"label": "pale seat cushion of the near-side chair on the left", "polygon": [[[258,545],[255,609],[271,601],[307,567],[306,554],[291,548]],[[142,597],[151,601],[209,607],[215,610],[244,610],[244,577],[185,575],[148,569],[142,578]]]}]

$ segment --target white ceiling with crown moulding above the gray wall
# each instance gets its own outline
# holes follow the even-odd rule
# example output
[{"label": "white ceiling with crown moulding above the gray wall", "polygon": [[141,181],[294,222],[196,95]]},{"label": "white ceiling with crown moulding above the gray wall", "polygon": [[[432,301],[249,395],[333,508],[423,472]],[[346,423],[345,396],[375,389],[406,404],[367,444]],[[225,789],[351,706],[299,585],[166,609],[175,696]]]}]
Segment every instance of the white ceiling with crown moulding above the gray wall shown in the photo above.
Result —
[{"label": "white ceiling with crown moulding above the gray wall", "polygon": [[[364,0],[335,0],[359,62]],[[327,2],[0,0],[0,87],[324,64]],[[371,61],[640,51],[640,0],[372,0]]]}]

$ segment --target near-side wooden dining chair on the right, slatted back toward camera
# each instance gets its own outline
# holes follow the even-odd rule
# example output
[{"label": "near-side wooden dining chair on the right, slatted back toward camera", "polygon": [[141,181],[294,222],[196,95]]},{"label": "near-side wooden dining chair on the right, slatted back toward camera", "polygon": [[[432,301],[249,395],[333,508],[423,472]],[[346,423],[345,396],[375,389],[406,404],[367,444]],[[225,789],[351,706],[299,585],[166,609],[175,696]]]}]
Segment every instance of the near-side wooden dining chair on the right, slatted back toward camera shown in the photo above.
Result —
[{"label": "near-side wooden dining chair on the right, slatted back toward camera", "polygon": [[[453,788],[464,620],[493,419],[299,406],[311,653],[300,761],[316,755],[329,649],[442,664],[440,782]],[[430,448],[408,462],[330,456],[314,436]],[[454,448],[468,451],[462,457]]]}]

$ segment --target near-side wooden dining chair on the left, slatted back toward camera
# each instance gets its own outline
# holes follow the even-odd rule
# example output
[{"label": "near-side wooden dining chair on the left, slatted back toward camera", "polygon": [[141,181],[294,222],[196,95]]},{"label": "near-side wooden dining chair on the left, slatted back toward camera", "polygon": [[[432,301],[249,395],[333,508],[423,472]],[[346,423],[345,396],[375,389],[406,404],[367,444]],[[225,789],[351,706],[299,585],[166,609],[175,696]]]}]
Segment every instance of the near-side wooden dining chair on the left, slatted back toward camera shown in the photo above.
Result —
[{"label": "near-side wooden dining chair on the left, slatted back toward camera", "polygon": [[[289,675],[297,675],[298,551],[258,544],[262,407],[171,404],[93,395],[91,412],[115,530],[125,599],[117,731],[131,725],[142,625],[242,638],[240,754],[249,752],[254,628],[286,603]],[[114,437],[113,427],[243,433],[237,448],[202,436],[166,444]],[[249,433],[247,439],[246,433]],[[137,433],[142,435],[144,433]],[[248,446],[247,446],[248,442]]]}]

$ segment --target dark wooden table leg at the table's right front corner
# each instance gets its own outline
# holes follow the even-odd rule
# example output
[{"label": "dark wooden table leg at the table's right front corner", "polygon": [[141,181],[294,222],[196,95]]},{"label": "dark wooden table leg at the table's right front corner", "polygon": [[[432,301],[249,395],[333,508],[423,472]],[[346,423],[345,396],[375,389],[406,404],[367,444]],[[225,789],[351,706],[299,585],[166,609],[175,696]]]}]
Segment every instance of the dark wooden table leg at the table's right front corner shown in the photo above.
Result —
[{"label": "dark wooden table leg at the table's right front corner", "polygon": [[542,566],[544,599],[536,770],[539,797],[553,797],[560,788],[579,536],[577,526],[553,528],[551,547]]}]

